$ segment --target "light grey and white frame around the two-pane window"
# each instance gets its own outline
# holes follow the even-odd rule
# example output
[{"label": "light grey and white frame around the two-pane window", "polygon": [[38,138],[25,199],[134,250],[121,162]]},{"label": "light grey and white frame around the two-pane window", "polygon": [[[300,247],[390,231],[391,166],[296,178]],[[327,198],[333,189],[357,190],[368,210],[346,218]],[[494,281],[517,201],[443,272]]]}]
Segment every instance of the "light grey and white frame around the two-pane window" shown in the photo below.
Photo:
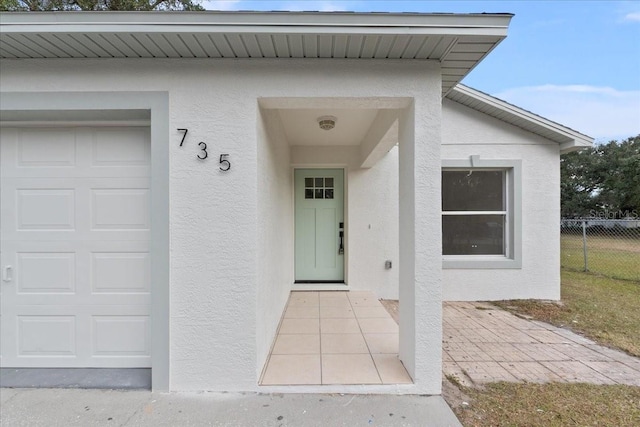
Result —
[{"label": "light grey and white frame around the two-pane window", "polygon": [[[504,255],[443,255],[444,269],[500,269],[522,268],[522,161],[502,159],[447,159],[442,161],[443,171],[504,171],[505,228]],[[441,196],[442,197],[442,196]],[[458,212],[449,213],[455,215]],[[465,214],[501,214],[504,211],[472,211]],[[441,212],[441,217],[444,213]]]}]

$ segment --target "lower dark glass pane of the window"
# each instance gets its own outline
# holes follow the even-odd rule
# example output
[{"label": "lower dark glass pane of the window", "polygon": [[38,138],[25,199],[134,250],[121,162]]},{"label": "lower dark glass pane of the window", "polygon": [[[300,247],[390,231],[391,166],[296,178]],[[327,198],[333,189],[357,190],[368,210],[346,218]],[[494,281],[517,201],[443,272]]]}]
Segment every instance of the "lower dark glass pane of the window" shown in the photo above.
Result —
[{"label": "lower dark glass pane of the window", "polygon": [[444,215],[443,255],[504,255],[504,215]]}]

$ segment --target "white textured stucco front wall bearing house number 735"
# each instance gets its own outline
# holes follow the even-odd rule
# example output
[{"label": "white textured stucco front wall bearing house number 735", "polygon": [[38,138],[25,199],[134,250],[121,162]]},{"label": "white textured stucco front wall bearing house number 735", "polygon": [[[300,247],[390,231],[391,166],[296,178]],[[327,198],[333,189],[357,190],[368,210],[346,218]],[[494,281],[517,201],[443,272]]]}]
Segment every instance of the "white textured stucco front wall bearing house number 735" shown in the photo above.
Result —
[{"label": "white textured stucco front wall bearing house number 735", "polygon": [[[172,132],[169,146],[172,390],[259,390],[258,374],[281,314],[278,310],[285,285],[268,287],[272,280],[288,279],[292,269],[287,271],[287,264],[292,260],[281,259],[291,251],[286,245],[277,251],[263,252],[272,244],[282,243],[277,231],[265,230],[281,207],[265,195],[258,195],[264,191],[260,174],[277,185],[286,185],[290,178],[281,170],[286,161],[275,159],[284,151],[273,141],[279,131],[265,129],[259,123],[258,99],[411,98],[415,105],[411,113],[415,111],[417,117],[416,138],[439,145],[439,69],[437,63],[429,61],[3,60],[0,77],[3,92],[168,93]],[[413,117],[406,124],[413,126]],[[183,147],[178,146],[181,133],[177,128],[189,129]],[[412,144],[413,131],[404,129],[404,133],[406,143]],[[200,141],[208,145],[209,158],[204,161],[196,157]],[[221,153],[229,154],[232,165],[229,172],[218,168]],[[417,182],[415,188],[421,196],[415,207],[420,208],[432,203],[439,194],[436,188],[439,170],[432,158],[439,159],[439,153],[436,147],[429,154],[427,146],[420,147],[417,153],[417,172],[406,179],[413,182],[415,178]],[[376,175],[371,179],[377,182],[382,178]],[[405,192],[407,200],[413,198],[413,188]],[[286,203],[284,192],[279,190],[274,199]],[[413,203],[406,205],[407,212],[412,206]],[[439,229],[437,208],[420,212],[418,229],[407,229],[404,234],[412,242]],[[406,218],[413,218],[413,213]],[[279,225],[287,218],[276,221]],[[274,238],[278,240],[272,242]],[[411,390],[421,393],[440,390],[438,245],[439,237],[435,242],[418,242],[417,256],[426,263],[416,267],[414,261],[407,260],[405,264],[411,271],[408,270],[400,286],[406,290],[415,288],[415,292],[407,291],[401,296],[401,305],[412,307],[403,317],[401,351],[415,375],[416,384]],[[409,253],[406,256],[413,257]],[[378,260],[377,255],[375,258],[376,265],[384,261]],[[360,280],[364,283],[365,279]]]}]

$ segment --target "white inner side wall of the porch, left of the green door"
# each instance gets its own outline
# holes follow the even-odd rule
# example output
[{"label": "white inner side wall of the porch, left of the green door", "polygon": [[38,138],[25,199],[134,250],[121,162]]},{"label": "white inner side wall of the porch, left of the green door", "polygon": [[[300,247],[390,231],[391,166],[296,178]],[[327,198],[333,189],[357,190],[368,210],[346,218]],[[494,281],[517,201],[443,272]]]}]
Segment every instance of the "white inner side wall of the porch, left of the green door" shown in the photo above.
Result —
[{"label": "white inner side wall of the porch, left of the green door", "polygon": [[[261,374],[293,283],[290,149],[275,110],[258,109],[257,375]],[[268,254],[268,256],[266,256]]]}]

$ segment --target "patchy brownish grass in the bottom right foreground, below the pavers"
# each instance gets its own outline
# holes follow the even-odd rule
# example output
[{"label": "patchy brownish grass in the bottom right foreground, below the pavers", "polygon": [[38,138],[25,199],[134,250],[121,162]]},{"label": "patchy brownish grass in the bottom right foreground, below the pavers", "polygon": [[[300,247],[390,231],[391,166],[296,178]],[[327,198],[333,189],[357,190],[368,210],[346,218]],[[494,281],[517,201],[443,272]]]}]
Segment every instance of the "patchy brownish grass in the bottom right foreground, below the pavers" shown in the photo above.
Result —
[{"label": "patchy brownish grass in the bottom right foreground, below the pavers", "polygon": [[494,383],[463,391],[471,404],[454,411],[465,427],[640,425],[640,387]]}]

